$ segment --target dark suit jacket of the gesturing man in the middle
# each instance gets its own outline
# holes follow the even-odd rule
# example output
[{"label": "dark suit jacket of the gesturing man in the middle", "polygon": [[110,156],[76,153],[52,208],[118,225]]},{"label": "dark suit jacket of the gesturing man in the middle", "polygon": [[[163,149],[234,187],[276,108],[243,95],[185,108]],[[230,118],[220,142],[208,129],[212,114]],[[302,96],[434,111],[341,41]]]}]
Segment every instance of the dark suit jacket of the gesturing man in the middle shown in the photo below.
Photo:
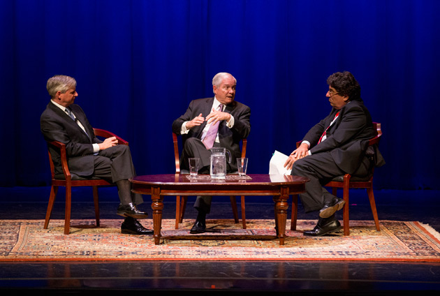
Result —
[{"label": "dark suit jacket of the gesturing man in the middle", "polygon": [[[207,117],[212,110],[213,102],[214,98],[199,98],[198,100],[191,101],[185,114],[173,122],[173,132],[177,133],[177,135],[180,135],[180,130],[184,121],[190,121],[194,117],[197,117],[200,113],[202,113],[203,117]],[[221,121],[219,124],[219,141],[221,147],[225,147],[230,151],[230,154],[233,158],[230,162],[230,165],[236,170],[237,163],[235,163],[235,158],[241,157],[240,141],[244,138],[247,138],[249,132],[251,131],[251,123],[249,121],[251,117],[251,108],[242,103],[233,101],[229,105],[226,105],[226,108],[223,110],[223,112],[228,112],[234,117],[234,126],[233,128],[228,128],[228,126],[226,126],[226,122]],[[182,135],[183,140],[193,137],[200,139],[205,126],[206,121],[200,126],[191,128],[187,135]]]}]

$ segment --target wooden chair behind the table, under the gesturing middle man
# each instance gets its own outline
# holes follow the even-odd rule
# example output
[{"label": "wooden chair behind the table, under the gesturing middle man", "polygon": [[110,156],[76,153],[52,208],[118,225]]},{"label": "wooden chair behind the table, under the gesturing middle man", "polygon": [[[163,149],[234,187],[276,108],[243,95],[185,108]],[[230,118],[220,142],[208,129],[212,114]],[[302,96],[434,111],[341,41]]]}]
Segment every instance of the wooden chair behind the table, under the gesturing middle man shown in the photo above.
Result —
[{"label": "wooden chair behind the table, under the gesturing middle man", "polygon": [[[181,170],[180,170],[179,142],[177,141],[177,134],[176,133],[173,133],[173,144],[174,144],[174,158],[175,158],[175,165],[176,165],[176,174],[178,175],[180,173],[182,173],[182,174],[186,173],[186,172],[181,172]],[[242,139],[242,157],[246,157],[246,146],[247,146],[247,140]],[[182,221],[184,219],[186,200],[188,200],[188,196],[182,196],[182,200],[181,200],[180,196],[176,196],[175,229],[179,229],[179,223],[182,223]],[[233,208],[234,221],[235,221],[235,223],[238,223],[237,200],[235,199],[235,196],[233,196],[233,195],[230,196],[230,205]],[[246,229],[246,214],[245,214],[246,209],[245,209],[245,205],[244,205],[244,196],[242,196],[241,207],[242,207],[243,229]]]}]

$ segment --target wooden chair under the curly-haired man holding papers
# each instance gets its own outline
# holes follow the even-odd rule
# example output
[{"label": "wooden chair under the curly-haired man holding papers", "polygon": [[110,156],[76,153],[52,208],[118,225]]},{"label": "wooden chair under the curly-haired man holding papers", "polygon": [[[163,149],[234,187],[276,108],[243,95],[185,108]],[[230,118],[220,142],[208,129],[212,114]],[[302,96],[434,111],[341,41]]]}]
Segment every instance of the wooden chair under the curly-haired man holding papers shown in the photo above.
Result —
[{"label": "wooden chair under the curly-haired man holding papers", "polygon": [[[377,135],[376,137],[369,140],[368,145],[379,145],[379,141],[381,140],[382,130],[381,124],[378,122],[373,122],[374,128],[376,128]],[[296,143],[297,148],[301,145],[301,142]],[[349,189],[350,188],[366,188],[367,194],[369,198],[369,205],[372,208],[374,223],[376,224],[376,230],[380,231],[379,228],[379,218],[377,216],[376,210],[376,202],[374,201],[374,193],[373,193],[373,173],[374,166],[369,176],[367,177],[355,177],[350,174],[337,176],[332,181],[325,184],[325,187],[332,187],[332,194],[336,196],[337,188],[342,188],[343,190],[343,198],[345,200],[343,216],[344,216],[344,235],[350,235],[350,223],[349,223]],[[292,201],[292,219],[291,219],[291,230],[296,230],[296,220],[298,213],[298,198],[293,196]]]}]

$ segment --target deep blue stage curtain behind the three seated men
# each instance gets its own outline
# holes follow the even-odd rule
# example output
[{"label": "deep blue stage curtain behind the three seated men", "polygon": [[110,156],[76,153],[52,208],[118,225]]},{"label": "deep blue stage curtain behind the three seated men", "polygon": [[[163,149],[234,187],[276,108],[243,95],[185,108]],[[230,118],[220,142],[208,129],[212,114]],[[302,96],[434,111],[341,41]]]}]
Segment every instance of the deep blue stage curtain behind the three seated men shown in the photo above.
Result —
[{"label": "deep blue stage curtain behind the three seated men", "polygon": [[351,71],[386,165],[379,188],[440,188],[440,1],[0,1],[1,186],[49,182],[39,117],[47,78],[71,75],[91,124],[130,142],[138,175],[173,173],[171,124],[212,77],[251,107],[251,173],[330,112],[327,77]]}]

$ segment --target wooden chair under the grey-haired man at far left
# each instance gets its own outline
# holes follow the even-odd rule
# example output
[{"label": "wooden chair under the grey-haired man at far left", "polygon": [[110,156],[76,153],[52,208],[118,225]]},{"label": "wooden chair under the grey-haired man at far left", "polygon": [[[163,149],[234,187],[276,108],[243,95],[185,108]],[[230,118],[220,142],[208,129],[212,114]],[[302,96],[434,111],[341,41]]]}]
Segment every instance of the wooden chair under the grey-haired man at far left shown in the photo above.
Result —
[{"label": "wooden chair under the grey-haired man at far left", "polygon": [[[105,131],[99,128],[94,128],[94,133],[98,137],[110,138],[116,137],[119,141],[119,145],[129,145],[129,142],[119,138],[114,133],[110,133],[109,131]],[[93,198],[95,204],[95,216],[96,216],[96,226],[99,227],[99,205],[98,205],[98,186],[111,186],[112,184],[108,183],[103,179],[91,178],[85,179],[82,177],[78,177],[76,175],[71,175],[71,172],[68,170],[67,164],[67,155],[66,155],[66,145],[61,142],[50,142],[50,145],[57,147],[60,151],[61,156],[61,167],[63,169],[63,175],[55,175],[54,163],[52,161],[52,155],[49,151],[49,163],[50,163],[50,172],[52,174],[52,186],[50,188],[50,197],[49,204],[47,205],[46,219],[44,223],[44,229],[47,229],[50,221],[50,214],[52,214],[52,209],[54,206],[55,198],[57,197],[58,187],[64,186],[66,187],[66,213],[64,219],[64,234],[68,235],[71,225],[71,197],[72,197],[72,187],[76,186],[92,186],[93,188]]]}]

